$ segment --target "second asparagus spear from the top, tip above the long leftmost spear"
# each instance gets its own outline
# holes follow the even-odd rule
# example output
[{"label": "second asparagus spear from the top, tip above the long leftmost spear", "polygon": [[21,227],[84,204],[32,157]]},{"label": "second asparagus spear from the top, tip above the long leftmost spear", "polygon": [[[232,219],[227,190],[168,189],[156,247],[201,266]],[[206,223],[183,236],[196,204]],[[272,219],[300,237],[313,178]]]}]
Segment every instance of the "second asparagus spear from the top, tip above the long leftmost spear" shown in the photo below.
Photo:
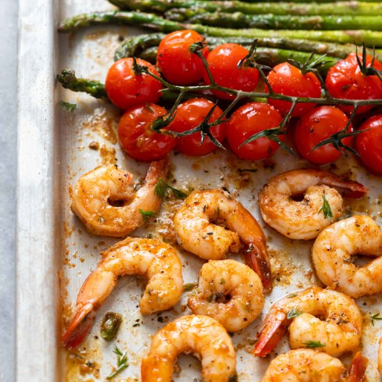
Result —
[{"label": "second asparagus spear from the top, tip above the long leftmost spear", "polygon": [[368,29],[382,31],[382,16],[339,15],[247,15],[241,12],[208,13],[204,8],[168,10],[165,17],[177,22],[191,22],[224,28],[273,28],[340,31]]}]

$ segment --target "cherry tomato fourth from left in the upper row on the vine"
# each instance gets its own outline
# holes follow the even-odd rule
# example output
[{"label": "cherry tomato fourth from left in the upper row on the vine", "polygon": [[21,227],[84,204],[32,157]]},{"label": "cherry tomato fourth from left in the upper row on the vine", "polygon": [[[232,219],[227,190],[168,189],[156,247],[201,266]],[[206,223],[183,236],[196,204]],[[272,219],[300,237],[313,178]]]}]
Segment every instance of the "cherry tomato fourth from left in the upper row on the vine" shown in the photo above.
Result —
[{"label": "cherry tomato fourth from left in the upper row on the vine", "polygon": [[[269,72],[267,79],[274,92],[294,97],[321,97],[321,85],[315,74],[309,72],[302,74],[300,69],[289,63],[276,65]],[[265,87],[267,91],[267,87]],[[291,102],[269,99],[282,115],[285,115],[292,106]],[[299,117],[315,107],[315,103],[299,103],[293,110],[292,117]]]}]

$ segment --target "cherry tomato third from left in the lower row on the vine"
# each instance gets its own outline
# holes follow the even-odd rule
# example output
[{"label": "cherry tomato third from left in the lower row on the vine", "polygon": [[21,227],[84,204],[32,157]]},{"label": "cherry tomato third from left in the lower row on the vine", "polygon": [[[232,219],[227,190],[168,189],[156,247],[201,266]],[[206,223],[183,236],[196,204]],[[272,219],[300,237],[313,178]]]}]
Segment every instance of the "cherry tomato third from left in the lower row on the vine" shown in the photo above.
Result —
[{"label": "cherry tomato third from left in the lower row on the vine", "polygon": [[[258,138],[240,148],[239,146],[259,131],[279,126],[282,119],[281,114],[268,103],[246,103],[235,110],[229,119],[229,147],[242,159],[260,160],[271,156],[279,149],[279,144],[269,138]],[[283,140],[283,137],[280,139]]]}]

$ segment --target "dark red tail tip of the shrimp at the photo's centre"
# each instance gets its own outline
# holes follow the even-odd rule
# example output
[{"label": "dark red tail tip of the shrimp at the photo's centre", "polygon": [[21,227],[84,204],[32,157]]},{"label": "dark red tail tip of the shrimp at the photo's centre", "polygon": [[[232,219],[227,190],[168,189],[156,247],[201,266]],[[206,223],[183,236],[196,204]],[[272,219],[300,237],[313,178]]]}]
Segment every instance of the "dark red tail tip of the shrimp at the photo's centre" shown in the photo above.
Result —
[{"label": "dark red tail tip of the shrimp at the photo's centre", "polygon": [[251,244],[245,254],[245,263],[254,269],[260,277],[264,292],[269,293],[272,290],[272,272],[267,250]]}]

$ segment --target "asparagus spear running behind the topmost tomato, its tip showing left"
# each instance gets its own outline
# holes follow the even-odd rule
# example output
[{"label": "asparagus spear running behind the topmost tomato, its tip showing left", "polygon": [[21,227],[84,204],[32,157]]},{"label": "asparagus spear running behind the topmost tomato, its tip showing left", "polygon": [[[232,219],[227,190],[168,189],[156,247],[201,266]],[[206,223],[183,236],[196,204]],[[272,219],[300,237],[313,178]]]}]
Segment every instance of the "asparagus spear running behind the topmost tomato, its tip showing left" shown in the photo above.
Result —
[{"label": "asparagus spear running behind the topmost tomato, its tip showing left", "polygon": [[[115,51],[115,60],[123,57],[139,56],[140,58],[150,58],[150,62],[153,60],[153,56],[156,55],[160,41],[165,37],[164,33],[150,33],[147,35],[138,35],[128,38],[121,47]],[[220,44],[226,42],[234,42],[235,44],[244,45],[250,47],[254,42],[251,38],[216,38],[207,36],[206,42],[210,49],[217,47]],[[346,58],[349,53],[355,51],[354,45],[342,45],[333,44],[328,42],[317,42],[310,40],[292,40],[287,38],[258,38],[256,39],[257,47],[267,47],[275,49],[286,49],[291,51],[300,51],[307,53],[326,54],[326,56]],[[373,50],[368,49],[367,53],[373,55]],[[294,53],[295,56],[295,53]],[[382,50],[376,50],[376,59],[382,59]]]}]

